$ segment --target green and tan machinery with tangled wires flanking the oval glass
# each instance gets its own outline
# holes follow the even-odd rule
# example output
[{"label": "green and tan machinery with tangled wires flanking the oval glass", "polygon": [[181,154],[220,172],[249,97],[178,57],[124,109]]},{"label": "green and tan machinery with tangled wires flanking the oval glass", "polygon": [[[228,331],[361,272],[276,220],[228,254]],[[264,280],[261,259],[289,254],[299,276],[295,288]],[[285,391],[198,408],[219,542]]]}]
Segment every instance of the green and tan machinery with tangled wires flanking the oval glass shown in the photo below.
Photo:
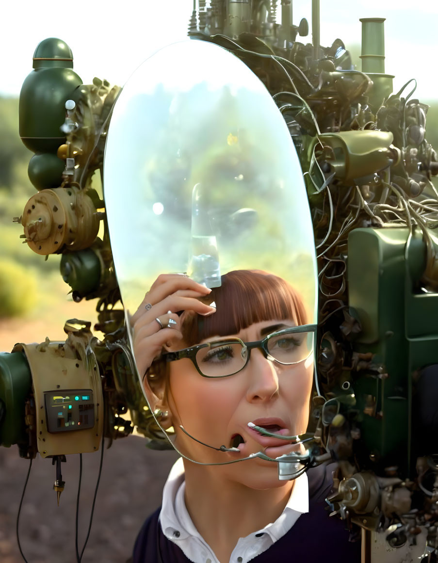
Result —
[{"label": "green and tan machinery with tangled wires flanking the oval glass", "polygon": [[[405,94],[407,84],[392,92],[383,19],[361,20],[359,71],[340,39],[320,46],[317,0],[311,43],[298,41],[309,25],[293,25],[292,2],[281,0],[280,8],[281,24],[276,2],[199,0],[189,37],[233,52],[260,78],[300,158],[319,270],[324,397],[315,397],[311,427],[315,444],[338,461],[333,512],[368,530],[392,526],[392,547],[414,543],[420,527],[431,553],[438,520],[438,194],[431,178],[438,162],[424,137],[427,106]],[[75,300],[97,298],[105,337],[73,319],[65,343],[20,344],[0,355],[0,443],[18,444],[27,458],[92,452],[102,433],[126,436],[132,426],[119,415],[127,410],[151,447],[163,444],[137,386],[105,203],[92,182],[102,172],[120,89],[99,79],[82,84],[72,61],[59,39],[34,53],[20,136],[35,152],[29,178],[38,193],[15,221],[34,252],[62,254],[61,275]],[[37,415],[55,400],[47,390],[61,385],[60,372],[71,377],[72,397],[93,397],[89,432],[70,426],[51,434],[50,421]],[[62,395],[66,404],[70,395]]]}]

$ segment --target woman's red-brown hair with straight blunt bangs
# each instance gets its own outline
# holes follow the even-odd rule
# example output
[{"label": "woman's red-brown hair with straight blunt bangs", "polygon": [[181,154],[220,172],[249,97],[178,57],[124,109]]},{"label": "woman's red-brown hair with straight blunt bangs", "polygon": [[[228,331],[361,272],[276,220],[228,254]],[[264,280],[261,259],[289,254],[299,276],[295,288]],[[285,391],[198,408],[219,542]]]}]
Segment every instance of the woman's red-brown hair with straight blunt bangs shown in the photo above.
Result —
[{"label": "woman's red-brown hair with straight blunt bangs", "polygon": [[297,325],[307,323],[301,297],[284,279],[262,270],[234,270],[221,278],[203,299],[214,301],[217,311],[203,317],[189,312],[183,316],[181,332],[186,346],[205,338],[236,334],[263,320],[292,319]]}]

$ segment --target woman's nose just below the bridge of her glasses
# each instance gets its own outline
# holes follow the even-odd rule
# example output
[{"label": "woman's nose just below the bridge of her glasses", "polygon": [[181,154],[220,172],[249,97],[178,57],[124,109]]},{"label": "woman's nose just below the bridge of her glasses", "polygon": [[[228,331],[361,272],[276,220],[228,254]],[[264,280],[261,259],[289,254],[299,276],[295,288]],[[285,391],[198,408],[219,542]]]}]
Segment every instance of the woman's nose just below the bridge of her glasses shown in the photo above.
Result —
[{"label": "woman's nose just below the bridge of her glasses", "polygon": [[249,403],[266,403],[278,396],[278,374],[274,362],[265,358],[261,350],[252,350],[248,364]]}]

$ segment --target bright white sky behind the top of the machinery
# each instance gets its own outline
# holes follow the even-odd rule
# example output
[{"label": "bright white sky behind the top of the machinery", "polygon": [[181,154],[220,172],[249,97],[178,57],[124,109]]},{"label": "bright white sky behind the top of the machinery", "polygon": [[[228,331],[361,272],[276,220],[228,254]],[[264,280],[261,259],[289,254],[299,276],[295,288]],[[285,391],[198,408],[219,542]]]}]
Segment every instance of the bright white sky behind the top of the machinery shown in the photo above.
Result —
[{"label": "bright white sky behind the top of the machinery", "polygon": [[[311,0],[292,1],[293,23],[298,25],[306,17],[311,26]],[[98,76],[123,85],[151,52],[186,37],[192,6],[193,0],[124,0],[117,4],[5,0],[0,94],[19,95],[32,70],[35,47],[46,37],[59,37],[69,44],[74,69],[84,83]],[[323,46],[337,37],[347,47],[360,44],[359,18],[386,17],[386,72],[396,75],[394,90],[409,78],[417,78],[415,97],[423,101],[438,98],[436,0],[321,0],[320,12]],[[311,41],[311,37],[302,40]]]}]

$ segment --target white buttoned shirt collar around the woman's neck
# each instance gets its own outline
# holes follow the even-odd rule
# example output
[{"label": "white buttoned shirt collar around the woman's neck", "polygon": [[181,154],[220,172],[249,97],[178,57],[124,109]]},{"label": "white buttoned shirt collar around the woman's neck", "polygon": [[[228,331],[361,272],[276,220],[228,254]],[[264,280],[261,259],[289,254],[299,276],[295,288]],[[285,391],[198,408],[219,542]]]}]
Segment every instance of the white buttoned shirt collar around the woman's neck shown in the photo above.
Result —
[{"label": "white buttoned shirt collar around the woman's neck", "polygon": [[[185,480],[182,458],[169,473],[163,489],[163,504],[159,521],[166,538],[176,543],[194,563],[219,563],[211,547],[196,530],[184,501]],[[230,563],[247,563],[266,551],[295,524],[301,514],[309,512],[309,483],[306,473],[295,480],[289,501],[275,522],[239,538]]]}]

